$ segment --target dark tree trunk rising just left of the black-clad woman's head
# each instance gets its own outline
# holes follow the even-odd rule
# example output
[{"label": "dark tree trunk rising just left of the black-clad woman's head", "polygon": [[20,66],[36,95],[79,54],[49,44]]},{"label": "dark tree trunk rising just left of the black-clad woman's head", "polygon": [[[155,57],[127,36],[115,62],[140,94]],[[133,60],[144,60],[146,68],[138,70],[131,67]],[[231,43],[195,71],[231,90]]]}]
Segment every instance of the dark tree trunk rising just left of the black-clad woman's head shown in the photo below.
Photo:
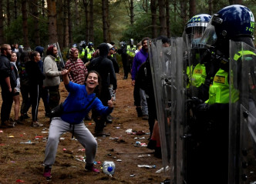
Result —
[{"label": "dark tree trunk rising just left of the black-clad woman's head", "polygon": [[22,0],[22,29],[23,29],[24,49],[29,49],[29,30],[28,30],[28,15],[27,15],[26,0]]}]

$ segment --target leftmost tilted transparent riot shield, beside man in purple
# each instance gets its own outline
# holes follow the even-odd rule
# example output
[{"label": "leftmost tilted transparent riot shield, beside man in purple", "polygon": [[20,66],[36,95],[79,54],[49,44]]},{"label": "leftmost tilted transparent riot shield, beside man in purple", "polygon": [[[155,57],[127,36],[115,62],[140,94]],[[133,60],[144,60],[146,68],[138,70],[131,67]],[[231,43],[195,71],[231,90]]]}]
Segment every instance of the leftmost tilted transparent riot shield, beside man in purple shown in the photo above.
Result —
[{"label": "leftmost tilted transparent riot shield, beside man in purple", "polygon": [[157,105],[157,120],[164,172],[170,167],[170,47],[162,41],[152,42],[149,49],[153,89]]}]

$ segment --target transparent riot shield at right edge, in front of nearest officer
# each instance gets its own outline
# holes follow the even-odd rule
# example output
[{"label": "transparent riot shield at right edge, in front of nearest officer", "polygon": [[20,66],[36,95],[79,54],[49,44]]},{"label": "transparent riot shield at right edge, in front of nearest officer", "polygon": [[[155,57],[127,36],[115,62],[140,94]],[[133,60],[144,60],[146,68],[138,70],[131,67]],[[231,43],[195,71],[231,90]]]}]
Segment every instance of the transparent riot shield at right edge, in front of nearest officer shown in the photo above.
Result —
[{"label": "transparent riot shield at right edge, in front of nearest officer", "polygon": [[230,42],[228,183],[256,182],[256,50]]}]

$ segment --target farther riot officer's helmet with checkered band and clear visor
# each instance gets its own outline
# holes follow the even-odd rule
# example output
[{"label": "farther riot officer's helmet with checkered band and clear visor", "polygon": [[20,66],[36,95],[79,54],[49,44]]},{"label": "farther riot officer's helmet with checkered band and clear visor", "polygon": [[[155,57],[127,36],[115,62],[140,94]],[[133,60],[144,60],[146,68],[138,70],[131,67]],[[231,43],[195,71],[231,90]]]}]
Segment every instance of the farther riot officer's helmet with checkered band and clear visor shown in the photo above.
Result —
[{"label": "farther riot officer's helmet with checkered band and clear visor", "polygon": [[192,43],[192,48],[204,47],[204,45],[200,44],[200,38],[202,37],[210,20],[211,15],[200,14],[194,15],[194,17],[190,18],[190,20],[187,22],[185,33]]}]

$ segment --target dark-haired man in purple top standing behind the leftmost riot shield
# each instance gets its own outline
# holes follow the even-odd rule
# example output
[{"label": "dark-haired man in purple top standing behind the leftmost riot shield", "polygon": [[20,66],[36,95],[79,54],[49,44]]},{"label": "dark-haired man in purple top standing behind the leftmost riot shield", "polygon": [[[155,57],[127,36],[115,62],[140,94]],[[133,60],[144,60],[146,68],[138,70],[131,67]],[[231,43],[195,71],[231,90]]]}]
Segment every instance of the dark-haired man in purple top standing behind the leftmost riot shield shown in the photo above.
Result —
[{"label": "dark-haired man in purple top standing behind the leftmost riot shield", "polygon": [[147,109],[147,100],[146,94],[143,89],[140,89],[136,86],[136,74],[140,69],[140,65],[143,62],[146,62],[148,57],[148,41],[150,41],[149,37],[145,37],[142,39],[142,49],[140,52],[137,52],[133,59],[133,68],[132,68],[132,85],[134,86],[133,90],[133,98],[134,105],[136,105],[136,112],[138,117],[142,116],[142,119],[148,119],[148,109]]}]

